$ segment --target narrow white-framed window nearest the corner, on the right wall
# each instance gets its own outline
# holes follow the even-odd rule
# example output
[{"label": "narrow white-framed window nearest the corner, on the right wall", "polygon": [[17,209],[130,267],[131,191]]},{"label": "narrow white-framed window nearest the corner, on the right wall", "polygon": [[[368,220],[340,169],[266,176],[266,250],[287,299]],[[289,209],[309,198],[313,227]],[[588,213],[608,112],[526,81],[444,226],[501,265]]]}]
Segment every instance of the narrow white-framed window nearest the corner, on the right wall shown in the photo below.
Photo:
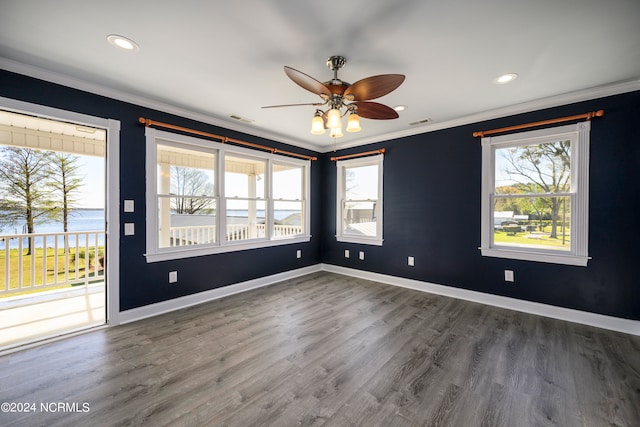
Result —
[{"label": "narrow white-framed window nearest the corner, on the right wall", "polygon": [[382,245],[382,161],[380,154],[336,163],[338,241]]}]

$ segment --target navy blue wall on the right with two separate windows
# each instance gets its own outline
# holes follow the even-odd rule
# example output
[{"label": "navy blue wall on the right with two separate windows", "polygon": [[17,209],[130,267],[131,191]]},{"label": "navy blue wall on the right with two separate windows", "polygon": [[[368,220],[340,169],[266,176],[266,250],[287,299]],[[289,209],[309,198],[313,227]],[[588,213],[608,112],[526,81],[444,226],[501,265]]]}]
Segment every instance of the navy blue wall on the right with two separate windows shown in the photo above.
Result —
[{"label": "navy blue wall on the right with two separate windows", "polygon": [[[604,109],[591,128],[587,267],[482,257],[481,146],[474,131]],[[339,151],[386,148],[384,244],[336,242],[335,165],[322,158],[328,264],[628,319],[640,319],[640,92]],[[325,172],[326,170],[326,172]],[[344,257],[344,250],[351,257]],[[365,259],[358,259],[358,251]],[[415,257],[415,267],[407,265]],[[515,283],[504,281],[504,270]]]}]

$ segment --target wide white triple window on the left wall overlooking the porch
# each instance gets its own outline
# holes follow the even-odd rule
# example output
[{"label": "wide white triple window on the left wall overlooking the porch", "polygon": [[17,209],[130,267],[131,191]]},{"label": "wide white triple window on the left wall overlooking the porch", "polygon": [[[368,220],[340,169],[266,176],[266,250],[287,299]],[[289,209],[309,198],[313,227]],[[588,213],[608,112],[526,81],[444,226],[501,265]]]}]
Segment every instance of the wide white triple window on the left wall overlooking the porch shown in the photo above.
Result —
[{"label": "wide white triple window on the left wall overlooking the porch", "polygon": [[309,161],[146,137],[148,262],[309,241]]}]

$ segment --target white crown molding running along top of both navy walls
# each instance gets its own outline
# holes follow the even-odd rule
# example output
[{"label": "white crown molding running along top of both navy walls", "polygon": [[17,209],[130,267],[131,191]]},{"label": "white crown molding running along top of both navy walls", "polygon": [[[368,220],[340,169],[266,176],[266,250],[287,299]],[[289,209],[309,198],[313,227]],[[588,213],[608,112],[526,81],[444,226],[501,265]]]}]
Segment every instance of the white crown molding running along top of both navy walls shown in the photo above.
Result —
[{"label": "white crown molding running along top of both navy walls", "polygon": [[640,90],[640,79],[630,80],[625,82],[618,82],[610,85],[597,86],[589,89],[579,90],[575,92],[568,92],[565,94],[554,95],[547,98],[541,98],[541,99],[537,99],[537,100],[533,100],[533,101],[529,101],[521,104],[515,104],[507,107],[487,110],[487,111],[483,111],[476,114],[470,114],[467,116],[446,120],[443,122],[429,123],[423,126],[412,127],[411,129],[406,129],[398,132],[390,132],[390,133],[380,134],[380,135],[376,135],[369,138],[357,139],[357,140],[345,142],[342,144],[315,145],[315,144],[306,143],[304,141],[292,139],[282,134],[267,132],[252,126],[231,123],[229,121],[225,121],[208,114],[195,112],[185,108],[179,108],[164,102],[155,101],[155,100],[138,96],[138,95],[132,95],[130,93],[107,88],[102,85],[89,83],[81,79],[69,77],[64,74],[55,73],[49,70],[45,70],[43,68],[23,64],[21,62],[13,61],[3,57],[0,57],[0,68],[7,71],[14,72],[14,73],[23,74],[36,79],[44,80],[50,83],[67,86],[73,89],[83,90],[83,91],[94,93],[97,95],[106,96],[108,98],[117,99],[119,101],[140,105],[142,107],[152,108],[155,110],[174,114],[176,116],[197,120],[199,122],[206,123],[209,125],[219,126],[225,129],[233,130],[236,132],[242,132],[247,135],[252,135],[259,138],[265,138],[271,141],[281,142],[294,147],[299,147],[302,149],[311,150],[318,153],[328,153],[331,151],[342,150],[345,148],[359,147],[363,145],[374,144],[377,142],[390,141],[393,139],[414,136],[422,133],[434,132],[442,129],[454,128],[458,126],[483,122],[486,120],[498,119],[501,117],[511,116],[515,114],[528,113],[531,111],[542,110],[545,108],[558,107],[561,105],[573,104],[576,102],[588,101],[591,99],[603,98],[606,96],[618,95],[622,93]]}]

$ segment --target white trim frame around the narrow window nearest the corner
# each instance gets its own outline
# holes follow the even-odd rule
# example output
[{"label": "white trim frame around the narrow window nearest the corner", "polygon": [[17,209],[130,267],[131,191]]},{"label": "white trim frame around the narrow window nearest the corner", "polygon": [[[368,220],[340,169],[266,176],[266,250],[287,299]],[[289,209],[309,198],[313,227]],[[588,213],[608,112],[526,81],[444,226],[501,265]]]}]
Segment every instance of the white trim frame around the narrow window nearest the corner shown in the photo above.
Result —
[{"label": "white trim frame around the narrow window nearest the corner", "polygon": [[[382,187],[382,177],[384,176],[382,170],[382,164],[384,160],[384,155],[379,154],[371,157],[362,157],[357,159],[348,159],[348,160],[339,160],[336,162],[336,171],[337,171],[337,191],[336,191],[336,240],[338,242],[347,242],[347,243],[358,243],[363,245],[376,245],[382,246],[383,242],[383,187]],[[344,195],[344,173],[343,170],[345,168],[353,168],[359,166],[369,166],[369,165],[377,165],[378,166],[378,200],[376,203],[376,236],[368,237],[368,236],[354,236],[350,234],[343,233],[343,206],[345,202]]]}]

